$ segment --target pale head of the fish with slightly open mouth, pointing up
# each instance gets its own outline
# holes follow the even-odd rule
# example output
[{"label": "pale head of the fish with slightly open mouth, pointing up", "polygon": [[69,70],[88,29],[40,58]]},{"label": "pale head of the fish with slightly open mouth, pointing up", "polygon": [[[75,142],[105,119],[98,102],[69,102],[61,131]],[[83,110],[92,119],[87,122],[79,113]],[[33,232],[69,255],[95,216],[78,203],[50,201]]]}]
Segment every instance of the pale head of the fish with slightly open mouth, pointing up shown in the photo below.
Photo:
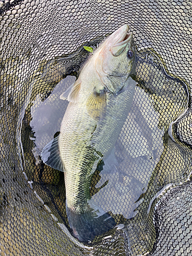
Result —
[{"label": "pale head of the fish with slightly open mouth, pointing up", "polygon": [[[124,25],[115,31],[96,53],[95,69],[101,82],[112,93],[118,93],[132,72],[135,61],[133,34]],[[128,52],[132,52],[129,58]]]}]

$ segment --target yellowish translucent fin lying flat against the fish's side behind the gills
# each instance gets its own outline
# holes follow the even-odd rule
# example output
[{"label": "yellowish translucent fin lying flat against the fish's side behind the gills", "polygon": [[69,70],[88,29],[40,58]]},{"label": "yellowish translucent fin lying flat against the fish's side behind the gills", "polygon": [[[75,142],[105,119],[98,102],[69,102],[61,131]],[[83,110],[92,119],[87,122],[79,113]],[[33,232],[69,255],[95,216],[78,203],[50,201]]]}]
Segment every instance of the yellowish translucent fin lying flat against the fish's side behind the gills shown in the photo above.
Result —
[{"label": "yellowish translucent fin lying flat against the fish's side behind the gills", "polygon": [[98,120],[103,118],[106,113],[106,90],[100,90],[99,93],[96,92],[95,88],[91,96],[88,98],[87,101],[87,110],[89,115]]}]

